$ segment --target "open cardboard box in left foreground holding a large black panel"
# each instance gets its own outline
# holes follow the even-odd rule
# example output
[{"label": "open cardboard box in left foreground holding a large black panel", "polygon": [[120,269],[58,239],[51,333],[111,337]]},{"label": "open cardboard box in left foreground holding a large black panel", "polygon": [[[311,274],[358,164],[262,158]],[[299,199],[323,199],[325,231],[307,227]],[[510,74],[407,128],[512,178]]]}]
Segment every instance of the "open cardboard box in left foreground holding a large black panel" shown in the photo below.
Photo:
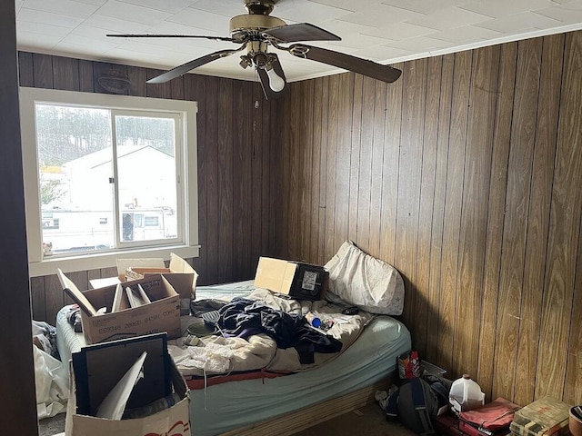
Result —
[{"label": "open cardboard box in left foreground holding a large black panel", "polygon": [[[112,343],[114,351],[120,352],[120,359],[107,359],[111,355],[111,350],[108,350],[101,359],[97,356],[95,362],[105,361],[98,367],[94,365],[95,371],[92,377],[98,377],[96,370],[102,370],[102,373],[107,376],[109,372],[115,369],[114,367],[107,368],[107,362],[117,365],[119,361],[124,361],[127,352],[133,352],[132,345],[135,343],[118,341]],[[165,342],[166,343],[166,342]],[[71,365],[70,371],[70,393],[67,404],[66,418],[65,418],[65,435],[66,436],[102,436],[105,434],[123,434],[125,436],[146,436],[152,434],[172,434],[175,436],[190,436],[190,421],[189,421],[189,397],[186,381],[181,376],[176,368],[176,363],[167,355],[167,361],[170,370],[170,378],[172,383],[172,390],[174,391],[173,398],[176,398],[176,403],[171,407],[157,411],[154,414],[134,419],[124,420],[109,420],[105,418],[97,418],[86,414],[77,412],[76,402],[76,381],[75,370]],[[80,375],[80,374],[79,374]],[[145,383],[146,376],[137,381],[135,386],[139,383]]]}]

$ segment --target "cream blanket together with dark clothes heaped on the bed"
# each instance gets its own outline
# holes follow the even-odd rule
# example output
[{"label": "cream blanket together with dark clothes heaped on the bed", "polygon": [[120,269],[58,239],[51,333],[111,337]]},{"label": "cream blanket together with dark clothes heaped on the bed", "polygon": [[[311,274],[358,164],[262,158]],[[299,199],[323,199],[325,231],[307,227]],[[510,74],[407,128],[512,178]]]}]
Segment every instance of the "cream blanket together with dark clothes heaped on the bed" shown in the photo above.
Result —
[{"label": "cream blanket together with dark clothes heaped on the bed", "polygon": [[[219,310],[224,315],[218,322],[221,334],[200,337],[194,346],[186,343],[185,335],[170,341],[168,349],[185,376],[306,371],[346,351],[373,318],[363,311],[346,315],[343,309],[345,306],[298,301],[257,288],[246,298],[234,299]],[[315,314],[327,330],[309,326],[307,313]],[[202,323],[191,318],[193,324]],[[235,318],[249,323],[233,324]]]}]

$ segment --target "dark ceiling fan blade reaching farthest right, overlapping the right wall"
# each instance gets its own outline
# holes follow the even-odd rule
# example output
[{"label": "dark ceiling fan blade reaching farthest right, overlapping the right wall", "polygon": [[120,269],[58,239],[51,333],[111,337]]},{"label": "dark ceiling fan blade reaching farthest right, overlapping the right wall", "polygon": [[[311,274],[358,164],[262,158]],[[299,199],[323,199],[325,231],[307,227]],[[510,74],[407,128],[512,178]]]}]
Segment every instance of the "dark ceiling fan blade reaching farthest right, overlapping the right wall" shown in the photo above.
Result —
[{"label": "dark ceiling fan blade reaching farthest right, overlapping the right wall", "polygon": [[[280,48],[280,47],[277,47]],[[352,56],[326,50],[325,48],[313,47],[311,45],[294,44],[288,49],[290,54],[304,59],[321,62],[323,64],[334,65],[354,73],[366,75],[383,82],[391,84],[395,82],[402,72],[390,65],[377,64],[360,57]]]}]

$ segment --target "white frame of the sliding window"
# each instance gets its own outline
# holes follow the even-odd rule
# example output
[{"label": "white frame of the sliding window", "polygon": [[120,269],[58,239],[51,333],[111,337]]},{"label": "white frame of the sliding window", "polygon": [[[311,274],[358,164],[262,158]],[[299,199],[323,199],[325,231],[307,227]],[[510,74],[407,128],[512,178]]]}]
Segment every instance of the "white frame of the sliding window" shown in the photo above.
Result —
[{"label": "white frame of the sliding window", "polygon": [[[174,245],[118,248],[105,253],[90,252],[66,257],[43,257],[41,207],[36,153],[35,104],[75,104],[102,107],[112,111],[148,110],[180,114],[184,121],[181,173],[186,189],[178,201],[184,205],[184,241]],[[55,274],[56,268],[64,272],[95,270],[115,267],[116,259],[163,258],[170,253],[183,258],[198,257],[198,189],[196,146],[196,102],[128,95],[93,94],[43,88],[20,88],[20,122],[23,150],[26,238],[28,243],[28,269],[31,277]],[[177,155],[177,154],[176,154]],[[178,222],[180,219],[178,218]]]}]

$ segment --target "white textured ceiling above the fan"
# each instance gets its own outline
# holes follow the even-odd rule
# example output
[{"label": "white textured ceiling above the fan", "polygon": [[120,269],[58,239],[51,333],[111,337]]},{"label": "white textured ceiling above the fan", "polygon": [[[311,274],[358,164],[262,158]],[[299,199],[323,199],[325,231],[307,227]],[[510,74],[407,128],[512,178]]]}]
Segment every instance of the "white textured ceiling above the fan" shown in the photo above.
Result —
[{"label": "white textured ceiling above the fan", "polygon": [[[243,0],[15,0],[18,49],[171,69],[229,42],[110,38],[105,34],[229,36]],[[307,43],[393,64],[582,29],[582,0],[278,0],[271,14],[311,23],[342,41]],[[276,51],[293,82],[341,70]],[[195,73],[255,80],[236,54]]]}]

